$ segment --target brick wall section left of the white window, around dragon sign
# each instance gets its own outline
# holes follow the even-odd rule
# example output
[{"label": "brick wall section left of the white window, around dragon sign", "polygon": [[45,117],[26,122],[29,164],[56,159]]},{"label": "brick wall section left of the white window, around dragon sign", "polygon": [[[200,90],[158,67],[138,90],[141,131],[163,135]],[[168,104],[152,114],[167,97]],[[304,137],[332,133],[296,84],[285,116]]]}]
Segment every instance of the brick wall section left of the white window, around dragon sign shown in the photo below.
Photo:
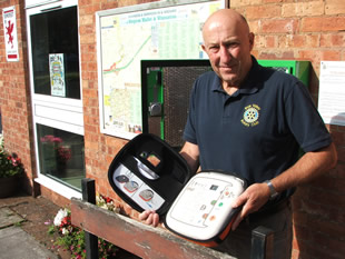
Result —
[{"label": "brick wall section left of the white window, around dragon sign", "polygon": [[[16,6],[19,61],[6,59],[2,9]],[[23,1],[7,0],[0,2],[0,109],[6,149],[16,152],[22,160],[28,178],[24,188],[32,190],[32,117],[30,87],[28,80],[27,31]]]}]

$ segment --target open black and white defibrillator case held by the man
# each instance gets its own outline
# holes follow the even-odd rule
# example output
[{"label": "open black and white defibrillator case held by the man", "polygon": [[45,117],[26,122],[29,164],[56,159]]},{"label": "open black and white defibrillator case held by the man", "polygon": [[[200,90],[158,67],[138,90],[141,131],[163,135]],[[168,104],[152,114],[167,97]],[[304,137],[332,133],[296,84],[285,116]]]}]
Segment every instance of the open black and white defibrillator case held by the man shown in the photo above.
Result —
[{"label": "open black and white defibrillator case held by the man", "polygon": [[228,235],[239,211],[231,202],[247,187],[234,173],[191,176],[185,159],[160,138],[141,133],[114,158],[108,179],[134,209],[156,210],[170,231],[206,247]]}]

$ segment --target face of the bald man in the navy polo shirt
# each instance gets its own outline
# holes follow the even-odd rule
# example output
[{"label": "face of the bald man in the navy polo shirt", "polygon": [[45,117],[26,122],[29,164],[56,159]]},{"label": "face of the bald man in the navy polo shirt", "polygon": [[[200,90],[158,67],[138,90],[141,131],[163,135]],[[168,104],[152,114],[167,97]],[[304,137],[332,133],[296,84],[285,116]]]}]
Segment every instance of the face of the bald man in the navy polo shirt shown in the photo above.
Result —
[{"label": "face of the bald man in the navy polo shirt", "polygon": [[204,51],[226,86],[239,87],[252,67],[254,34],[244,22],[210,22],[204,30]]}]

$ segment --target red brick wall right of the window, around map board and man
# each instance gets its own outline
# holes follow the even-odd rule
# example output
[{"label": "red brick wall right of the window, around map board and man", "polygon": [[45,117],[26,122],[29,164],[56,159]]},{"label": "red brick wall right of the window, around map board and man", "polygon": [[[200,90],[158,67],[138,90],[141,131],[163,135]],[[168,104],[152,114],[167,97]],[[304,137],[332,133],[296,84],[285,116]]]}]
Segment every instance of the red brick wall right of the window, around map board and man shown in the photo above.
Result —
[{"label": "red brick wall right of the window, around map board and man", "polygon": [[[107,169],[126,140],[99,132],[95,12],[139,1],[79,2],[85,140],[87,175],[96,179],[100,193],[116,198],[108,185]],[[254,54],[258,59],[296,59],[312,62],[309,89],[317,102],[319,62],[345,60],[345,2],[343,0],[231,0],[230,7],[245,14],[256,34]],[[336,169],[294,197],[293,258],[334,258],[345,255],[345,129],[332,126],[339,162]],[[134,211],[124,205],[127,213]]]}]

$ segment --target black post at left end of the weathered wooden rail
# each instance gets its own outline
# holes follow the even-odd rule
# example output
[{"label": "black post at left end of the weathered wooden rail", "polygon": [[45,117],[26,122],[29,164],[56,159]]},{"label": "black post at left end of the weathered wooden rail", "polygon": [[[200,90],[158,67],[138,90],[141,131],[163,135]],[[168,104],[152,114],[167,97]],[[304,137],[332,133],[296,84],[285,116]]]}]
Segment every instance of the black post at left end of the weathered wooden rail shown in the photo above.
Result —
[{"label": "black post at left end of the weathered wooden rail", "polygon": [[[95,180],[81,179],[82,200],[96,205],[96,187]],[[85,231],[85,245],[87,259],[98,259],[98,237]]]}]

